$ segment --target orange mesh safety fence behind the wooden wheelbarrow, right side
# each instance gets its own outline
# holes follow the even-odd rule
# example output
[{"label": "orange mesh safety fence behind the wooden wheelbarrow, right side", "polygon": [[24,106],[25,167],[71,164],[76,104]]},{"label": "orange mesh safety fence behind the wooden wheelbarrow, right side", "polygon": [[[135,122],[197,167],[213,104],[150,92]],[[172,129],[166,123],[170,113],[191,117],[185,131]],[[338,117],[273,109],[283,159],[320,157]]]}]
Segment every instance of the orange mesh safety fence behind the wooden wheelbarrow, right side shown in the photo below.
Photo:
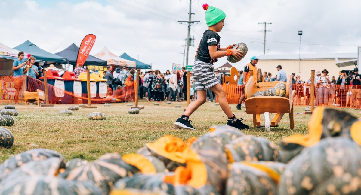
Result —
[{"label": "orange mesh safety fence behind the wooden wheelbarrow, right side", "polygon": [[[226,99],[229,104],[237,104],[243,94],[242,85],[222,85],[226,92]],[[293,105],[309,106],[311,100],[310,85],[293,84],[292,90],[296,93],[293,96]],[[340,108],[361,109],[361,86],[353,85],[325,85],[315,86],[314,105],[333,106]]]}]

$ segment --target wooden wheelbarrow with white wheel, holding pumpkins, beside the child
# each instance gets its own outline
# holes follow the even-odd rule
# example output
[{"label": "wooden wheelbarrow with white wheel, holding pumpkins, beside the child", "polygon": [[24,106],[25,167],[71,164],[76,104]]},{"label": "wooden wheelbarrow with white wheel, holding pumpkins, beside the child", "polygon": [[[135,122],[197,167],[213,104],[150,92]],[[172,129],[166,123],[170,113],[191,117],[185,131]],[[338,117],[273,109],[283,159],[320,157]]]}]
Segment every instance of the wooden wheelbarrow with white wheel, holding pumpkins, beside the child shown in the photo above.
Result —
[{"label": "wooden wheelbarrow with white wheel, holding pumpkins, beside the child", "polygon": [[[292,90],[291,75],[288,76],[286,84],[286,98],[279,96],[256,96],[251,97],[258,91],[265,91],[274,87],[279,82],[254,83],[250,77],[244,88],[244,98],[247,114],[253,114],[253,127],[265,127],[270,132],[270,127],[277,127],[285,113],[290,114],[290,128],[295,128],[295,117],[293,115],[293,96],[296,90]],[[277,113],[270,123],[269,114]],[[265,125],[261,125],[260,114],[265,114]]]}]

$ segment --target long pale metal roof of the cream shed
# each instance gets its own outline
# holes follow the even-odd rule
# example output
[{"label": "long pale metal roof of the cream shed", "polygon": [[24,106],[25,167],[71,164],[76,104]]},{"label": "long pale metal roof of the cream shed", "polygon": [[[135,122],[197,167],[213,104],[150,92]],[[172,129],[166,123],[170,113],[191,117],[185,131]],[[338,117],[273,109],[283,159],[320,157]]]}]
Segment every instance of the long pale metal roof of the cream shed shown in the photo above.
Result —
[{"label": "long pale metal roof of the cream shed", "polygon": [[[298,60],[299,54],[279,54],[279,55],[260,55],[260,60]],[[357,53],[339,53],[339,54],[301,54],[301,60],[309,59],[355,59]]]}]

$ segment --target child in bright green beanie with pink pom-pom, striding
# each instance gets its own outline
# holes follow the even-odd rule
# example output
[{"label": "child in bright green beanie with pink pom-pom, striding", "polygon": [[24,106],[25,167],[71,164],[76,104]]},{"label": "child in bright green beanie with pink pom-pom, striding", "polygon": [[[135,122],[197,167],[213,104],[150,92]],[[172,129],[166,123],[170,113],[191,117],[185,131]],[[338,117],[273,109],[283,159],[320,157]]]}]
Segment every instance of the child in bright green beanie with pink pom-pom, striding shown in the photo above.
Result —
[{"label": "child in bright green beanie with pink pom-pom, striding", "polygon": [[208,4],[203,5],[205,12],[205,21],[208,29],[203,33],[203,37],[198,45],[194,65],[192,68],[192,78],[194,80],[195,90],[197,91],[197,100],[193,101],[182,114],[180,118],[174,123],[177,128],[186,128],[195,130],[188,120],[190,115],[199,108],[200,105],[206,102],[207,89],[212,90],[218,96],[218,102],[223,112],[228,117],[228,126],[236,127],[238,129],[249,129],[244,124],[246,119],[238,119],[232,113],[229,104],[226,99],[226,92],[222,89],[221,85],[214,75],[214,63],[217,62],[218,58],[225,56],[235,56],[237,59],[243,57],[242,51],[231,49],[230,45],[226,48],[219,46],[220,36],[217,32],[220,32],[224,26],[226,14],[213,6]]}]

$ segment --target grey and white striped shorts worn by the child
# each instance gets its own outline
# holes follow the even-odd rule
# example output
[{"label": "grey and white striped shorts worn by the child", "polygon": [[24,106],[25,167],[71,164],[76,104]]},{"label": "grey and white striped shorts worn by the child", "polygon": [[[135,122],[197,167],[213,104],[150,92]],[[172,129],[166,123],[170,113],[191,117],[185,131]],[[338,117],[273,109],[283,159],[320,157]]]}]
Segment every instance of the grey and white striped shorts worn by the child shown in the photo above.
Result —
[{"label": "grey and white striped shorts worn by the child", "polygon": [[207,89],[219,83],[213,71],[214,64],[202,62],[197,58],[194,60],[192,78],[194,80],[196,90],[207,91]]}]

